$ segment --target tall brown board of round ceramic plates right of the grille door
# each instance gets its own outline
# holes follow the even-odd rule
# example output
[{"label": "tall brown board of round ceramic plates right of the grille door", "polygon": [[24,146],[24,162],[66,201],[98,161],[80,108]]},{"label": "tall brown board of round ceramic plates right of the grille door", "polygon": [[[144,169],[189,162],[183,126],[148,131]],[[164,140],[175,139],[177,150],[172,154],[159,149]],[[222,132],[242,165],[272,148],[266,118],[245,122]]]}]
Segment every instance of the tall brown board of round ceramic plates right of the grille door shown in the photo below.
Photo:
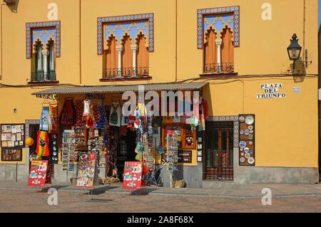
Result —
[{"label": "tall brown board of round ceramic plates right of the grille door", "polygon": [[240,166],[255,166],[255,115],[239,115]]}]

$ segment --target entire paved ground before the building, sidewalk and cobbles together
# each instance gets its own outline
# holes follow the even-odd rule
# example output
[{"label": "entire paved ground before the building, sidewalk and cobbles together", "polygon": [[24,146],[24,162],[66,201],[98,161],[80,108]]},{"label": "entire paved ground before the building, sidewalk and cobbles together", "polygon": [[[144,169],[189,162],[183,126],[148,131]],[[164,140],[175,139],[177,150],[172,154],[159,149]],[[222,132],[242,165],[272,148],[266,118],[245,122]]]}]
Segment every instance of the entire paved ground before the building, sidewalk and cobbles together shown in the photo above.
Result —
[{"label": "entire paved ground before the building, sidewalk and cobbles together", "polygon": [[[49,189],[49,185],[46,189]],[[98,186],[92,194],[75,185],[54,185],[58,204],[50,206],[51,194],[21,183],[0,182],[0,213],[199,213],[199,212],[320,212],[321,185],[251,184],[233,189],[142,189],[129,194],[121,184]],[[262,189],[272,190],[270,206],[262,204]],[[88,191],[87,191],[88,192]]]}]

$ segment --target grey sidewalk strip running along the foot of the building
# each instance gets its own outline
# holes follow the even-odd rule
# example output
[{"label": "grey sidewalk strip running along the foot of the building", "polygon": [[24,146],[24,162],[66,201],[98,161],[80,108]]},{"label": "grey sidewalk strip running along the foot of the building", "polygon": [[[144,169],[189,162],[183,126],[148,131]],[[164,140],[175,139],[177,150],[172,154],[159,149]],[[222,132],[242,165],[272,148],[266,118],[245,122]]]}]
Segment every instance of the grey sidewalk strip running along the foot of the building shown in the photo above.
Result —
[{"label": "grey sidewalk strip running along the foot of the building", "polygon": [[[66,192],[89,192],[91,194],[131,194],[131,191],[122,189],[121,183],[110,185],[98,185],[94,189],[86,191],[79,189],[75,184],[48,184],[46,188],[56,188],[58,191]],[[254,199],[262,198],[262,190],[268,188],[272,191],[274,198],[290,198],[290,197],[312,197],[321,196],[321,184],[249,184],[231,189],[175,189],[163,187],[143,187],[141,194],[153,196],[203,196],[227,199]],[[40,190],[34,187],[26,186],[26,183],[16,182],[0,182],[0,190]],[[133,191],[132,194],[139,194],[140,191]]]}]

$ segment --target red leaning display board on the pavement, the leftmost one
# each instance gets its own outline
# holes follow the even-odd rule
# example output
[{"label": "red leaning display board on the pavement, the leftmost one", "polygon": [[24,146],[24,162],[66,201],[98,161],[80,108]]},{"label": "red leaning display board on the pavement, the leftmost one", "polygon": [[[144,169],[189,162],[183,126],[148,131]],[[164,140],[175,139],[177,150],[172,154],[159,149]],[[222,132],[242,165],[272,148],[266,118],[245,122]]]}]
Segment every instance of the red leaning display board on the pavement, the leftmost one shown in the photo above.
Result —
[{"label": "red leaning display board on the pavement, the leftmost one", "polygon": [[48,162],[48,160],[31,161],[28,186],[41,189],[39,192],[45,192],[46,184],[51,184],[51,187],[53,186]]}]

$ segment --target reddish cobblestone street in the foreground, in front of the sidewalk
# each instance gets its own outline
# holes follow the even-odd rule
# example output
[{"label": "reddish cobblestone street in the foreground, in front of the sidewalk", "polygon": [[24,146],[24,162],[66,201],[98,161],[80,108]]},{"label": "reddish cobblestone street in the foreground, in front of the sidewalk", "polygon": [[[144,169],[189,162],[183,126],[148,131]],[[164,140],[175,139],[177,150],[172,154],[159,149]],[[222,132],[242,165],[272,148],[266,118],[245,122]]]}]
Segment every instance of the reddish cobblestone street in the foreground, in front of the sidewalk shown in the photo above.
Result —
[{"label": "reddish cobblestone street in the foreground, in front of the sidewalk", "polygon": [[260,198],[215,198],[180,195],[94,194],[58,191],[58,205],[49,206],[50,194],[39,190],[1,189],[0,212],[321,212],[321,196],[273,198],[263,206]]}]

